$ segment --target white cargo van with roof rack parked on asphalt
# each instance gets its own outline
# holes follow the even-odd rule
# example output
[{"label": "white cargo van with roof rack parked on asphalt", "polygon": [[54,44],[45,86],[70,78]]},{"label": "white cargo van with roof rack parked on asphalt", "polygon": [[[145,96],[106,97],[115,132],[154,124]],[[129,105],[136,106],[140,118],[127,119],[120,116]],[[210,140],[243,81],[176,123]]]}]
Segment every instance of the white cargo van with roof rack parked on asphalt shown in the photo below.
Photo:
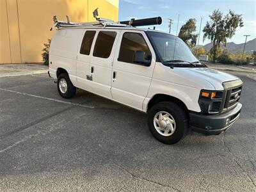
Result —
[{"label": "white cargo van with roof rack parked on asphalt", "polygon": [[55,20],[49,76],[61,97],[80,88],[148,113],[150,132],[168,144],[189,127],[220,134],[236,122],[241,79],[201,64],[180,38],[134,23]]}]

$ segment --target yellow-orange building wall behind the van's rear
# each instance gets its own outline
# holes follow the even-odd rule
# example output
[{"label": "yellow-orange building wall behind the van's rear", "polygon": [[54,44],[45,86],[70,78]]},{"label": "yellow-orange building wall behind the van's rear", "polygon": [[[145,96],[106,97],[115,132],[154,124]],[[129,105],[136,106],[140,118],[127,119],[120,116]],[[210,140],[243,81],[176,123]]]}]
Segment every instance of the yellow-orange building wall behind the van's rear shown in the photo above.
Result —
[{"label": "yellow-orange building wall behind the van's rear", "polygon": [[118,20],[118,0],[0,0],[0,63],[42,62],[42,49],[54,31],[52,16],[58,20],[95,21],[99,16]]}]

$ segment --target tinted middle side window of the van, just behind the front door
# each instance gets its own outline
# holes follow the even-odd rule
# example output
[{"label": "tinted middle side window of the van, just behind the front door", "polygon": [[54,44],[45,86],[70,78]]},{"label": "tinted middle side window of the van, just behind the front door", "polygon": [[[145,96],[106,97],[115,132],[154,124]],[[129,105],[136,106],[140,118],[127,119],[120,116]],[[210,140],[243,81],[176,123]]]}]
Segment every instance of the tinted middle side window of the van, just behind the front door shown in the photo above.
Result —
[{"label": "tinted middle side window of the van, just behind the front door", "polygon": [[100,31],[95,42],[93,56],[99,58],[108,58],[111,54],[115,38],[115,31]]}]

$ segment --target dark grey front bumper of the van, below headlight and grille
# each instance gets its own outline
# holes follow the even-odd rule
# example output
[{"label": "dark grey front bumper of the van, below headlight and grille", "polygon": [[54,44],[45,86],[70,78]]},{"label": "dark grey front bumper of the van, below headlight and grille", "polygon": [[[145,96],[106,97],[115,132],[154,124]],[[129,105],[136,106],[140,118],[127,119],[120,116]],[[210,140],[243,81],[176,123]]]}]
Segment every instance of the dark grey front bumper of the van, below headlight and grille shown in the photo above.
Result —
[{"label": "dark grey front bumper of the van, below headlight and grille", "polygon": [[190,112],[190,127],[196,132],[220,134],[236,122],[240,116],[241,108],[242,104],[238,103],[236,108],[216,115],[203,115],[202,113]]}]

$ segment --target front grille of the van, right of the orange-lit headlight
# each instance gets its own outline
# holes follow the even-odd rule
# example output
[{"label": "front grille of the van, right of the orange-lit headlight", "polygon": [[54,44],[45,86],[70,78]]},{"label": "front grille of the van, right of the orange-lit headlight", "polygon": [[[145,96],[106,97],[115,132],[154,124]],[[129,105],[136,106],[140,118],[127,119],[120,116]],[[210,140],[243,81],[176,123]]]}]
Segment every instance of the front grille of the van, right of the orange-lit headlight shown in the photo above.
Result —
[{"label": "front grille of the van, right of the orange-lit headlight", "polygon": [[227,90],[227,97],[225,99],[225,105],[223,108],[224,111],[227,111],[228,109],[232,109],[237,105],[237,102],[241,97],[241,91],[242,91],[242,86]]}]

